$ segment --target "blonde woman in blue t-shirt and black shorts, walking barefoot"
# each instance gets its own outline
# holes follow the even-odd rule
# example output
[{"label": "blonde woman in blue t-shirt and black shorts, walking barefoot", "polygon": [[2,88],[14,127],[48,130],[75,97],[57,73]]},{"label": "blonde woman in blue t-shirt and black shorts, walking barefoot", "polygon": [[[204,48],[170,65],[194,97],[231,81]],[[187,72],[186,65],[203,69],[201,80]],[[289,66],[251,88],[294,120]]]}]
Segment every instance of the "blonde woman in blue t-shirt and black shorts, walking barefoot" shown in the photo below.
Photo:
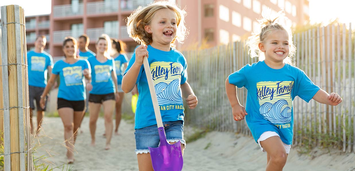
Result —
[{"label": "blonde woman in blue t-shirt and black shorts, walking barefoot", "polygon": [[110,149],[113,131],[112,112],[119,100],[115,61],[110,56],[111,40],[102,34],[96,42],[96,56],[89,57],[92,71],[92,90],[89,95],[91,145],[95,146],[96,121],[101,105],[105,118],[105,150]]}]

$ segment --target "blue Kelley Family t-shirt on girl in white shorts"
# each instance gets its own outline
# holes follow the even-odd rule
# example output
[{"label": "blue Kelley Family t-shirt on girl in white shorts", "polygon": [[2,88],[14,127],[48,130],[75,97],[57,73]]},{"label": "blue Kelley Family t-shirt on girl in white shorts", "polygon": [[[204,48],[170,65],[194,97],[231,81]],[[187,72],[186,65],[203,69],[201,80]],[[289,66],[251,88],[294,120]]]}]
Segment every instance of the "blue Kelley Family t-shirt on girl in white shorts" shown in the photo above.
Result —
[{"label": "blue Kelley Family t-shirt on girl in white shorts", "polygon": [[259,61],[229,75],[229,83],[248,90],[246,122],[257,142],[263,132],[274,131],[282,142],[292,144],[295,96],[307,103],[320,89],[297,67],[285,64],[273,69]]}]

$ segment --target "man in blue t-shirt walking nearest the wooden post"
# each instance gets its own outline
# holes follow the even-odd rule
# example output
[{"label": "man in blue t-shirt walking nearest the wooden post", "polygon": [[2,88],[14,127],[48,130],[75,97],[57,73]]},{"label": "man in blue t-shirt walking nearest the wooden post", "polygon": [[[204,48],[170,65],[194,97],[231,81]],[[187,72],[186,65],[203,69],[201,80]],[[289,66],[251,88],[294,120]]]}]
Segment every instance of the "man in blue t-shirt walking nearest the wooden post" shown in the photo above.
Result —
[{"label": "man in blue t-shirt walking nearest the wooden post", "polygon": [[[47,76],[50,77],[53,68],[52,56],[43,51],[47,40],[44,35],[39,35],[34,42],[34,50],[27,53],[28,63],[28,92],[29,92],[29,114],[31,123],[31,134],[33,134],[32,110],[35,109],[34,100],[37,106],[37,129],[38,133],[41,129],[42,119],[45,107],[39,105],[41,94],[47,85]],[[47,106],[47,105],[46,105]]]}]

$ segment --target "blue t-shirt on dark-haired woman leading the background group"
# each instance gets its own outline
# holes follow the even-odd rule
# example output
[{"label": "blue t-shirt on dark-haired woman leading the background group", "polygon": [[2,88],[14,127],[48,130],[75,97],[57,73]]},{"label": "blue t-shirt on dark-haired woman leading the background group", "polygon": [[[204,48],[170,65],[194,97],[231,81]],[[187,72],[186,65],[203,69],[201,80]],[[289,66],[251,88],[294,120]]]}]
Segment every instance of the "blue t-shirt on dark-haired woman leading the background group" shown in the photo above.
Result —
[{"label": "blue t-shirt on dark-haired woman leading the background group", "polygon": [[86,59],[79,59],[74,64],[68,64],[63,60],[55,63],[52,73],[60,77],[58,98],[69,101],[86,99],[83,70],[90,69],[89,66]]}]

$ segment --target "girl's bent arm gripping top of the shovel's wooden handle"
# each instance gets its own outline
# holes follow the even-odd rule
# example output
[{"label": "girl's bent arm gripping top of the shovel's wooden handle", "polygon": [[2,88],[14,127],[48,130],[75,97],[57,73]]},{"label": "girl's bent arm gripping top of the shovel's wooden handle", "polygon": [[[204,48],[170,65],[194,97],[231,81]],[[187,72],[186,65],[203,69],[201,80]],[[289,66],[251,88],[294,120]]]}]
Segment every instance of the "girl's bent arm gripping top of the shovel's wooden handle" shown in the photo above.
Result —
[{"label": "girl's bent arm gripping top of the shovel's wooden handle", "polygon": [[122,78],[122,90],[125,93],[129,93],[130,91],[132,91],[132,89],[136,85],[139,71],[141,69],[141,66],[143,65],[143,57],[148,57],[147,47],[148,46],[140,45],[136,49],[136,60]]}]

